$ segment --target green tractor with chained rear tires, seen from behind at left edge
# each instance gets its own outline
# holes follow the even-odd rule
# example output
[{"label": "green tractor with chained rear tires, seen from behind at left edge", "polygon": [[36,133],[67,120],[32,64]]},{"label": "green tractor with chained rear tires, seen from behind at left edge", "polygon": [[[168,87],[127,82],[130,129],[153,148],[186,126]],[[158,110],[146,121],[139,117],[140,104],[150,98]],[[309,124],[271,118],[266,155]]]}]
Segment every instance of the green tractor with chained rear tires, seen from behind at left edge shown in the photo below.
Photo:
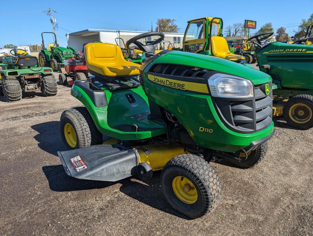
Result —
[{"label": "green tractor with chained rear tires, seen from behind at left edge", "polygon": [[57,82],[50,67],[39,66],[37,58],[25,50],[12,49],[10,53],[0,63],[0,93],[7,102],[21,100],[22,91],[40,89],[44,96],[57,94]]}]

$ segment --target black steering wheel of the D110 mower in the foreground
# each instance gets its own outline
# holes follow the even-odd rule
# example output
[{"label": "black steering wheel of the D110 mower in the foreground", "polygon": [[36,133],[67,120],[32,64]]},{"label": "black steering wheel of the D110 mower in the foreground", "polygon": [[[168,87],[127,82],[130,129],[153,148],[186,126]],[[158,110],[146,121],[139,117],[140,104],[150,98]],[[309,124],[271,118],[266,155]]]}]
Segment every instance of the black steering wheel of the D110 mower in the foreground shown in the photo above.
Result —
[{"label": "black steering wheel of the D110 mower in the foreground", "polygon": [[[143,39],[149,36],[159,36],[159,38],[147,45],[143,45],[140,41],[138,41],[139,39]],[[157,44],[160,43],[163,39],[164,39],[164,34],[162,32],[147,32],[144,34],[139,34],[129,39],[126,42],[125,48],[130,49],[130,50],[139,49],[147,54],[154,55],[154,51],[156,49]],[[129,45],[131,45],[132,43],[135,44],[136,46],[130,47]]]}]

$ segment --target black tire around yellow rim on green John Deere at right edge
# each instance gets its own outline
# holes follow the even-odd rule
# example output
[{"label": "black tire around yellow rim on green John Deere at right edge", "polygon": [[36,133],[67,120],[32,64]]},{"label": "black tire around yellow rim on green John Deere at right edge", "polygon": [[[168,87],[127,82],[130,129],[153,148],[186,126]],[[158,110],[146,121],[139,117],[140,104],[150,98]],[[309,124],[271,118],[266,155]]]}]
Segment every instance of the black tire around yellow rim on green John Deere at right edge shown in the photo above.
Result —
[{"label": "black tire around yellow rim on green John Deere at right edge", "polygon": [[313,127],[313,115],[306,123],[296,123],[289,116],[290,108],[296,103],[303,103],[307,105],[311,109],[311,113],[313,113],[313,96],[307,94],[299,94],[294,97],[291,97],[288,102],[286,102],[283,109],[283,116],[288,125],[294,128],[299,129],[309,129]]}]

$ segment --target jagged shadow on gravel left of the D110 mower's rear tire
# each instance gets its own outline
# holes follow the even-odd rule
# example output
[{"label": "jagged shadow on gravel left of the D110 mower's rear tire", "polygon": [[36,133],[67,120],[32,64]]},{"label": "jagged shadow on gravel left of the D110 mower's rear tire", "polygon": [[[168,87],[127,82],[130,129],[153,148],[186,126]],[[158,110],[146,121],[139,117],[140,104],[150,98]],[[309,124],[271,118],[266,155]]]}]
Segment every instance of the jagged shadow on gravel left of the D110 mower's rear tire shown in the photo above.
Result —
[{"label": "jagged shadow on gravel left of the D110 mower's rear tire", "polygon": [[59,131],[59,121],[49,121],[31,127],[39,133],[34,137],[39,142],[39,148],[55,156],[58,156],[58,151],[66,151]]}]

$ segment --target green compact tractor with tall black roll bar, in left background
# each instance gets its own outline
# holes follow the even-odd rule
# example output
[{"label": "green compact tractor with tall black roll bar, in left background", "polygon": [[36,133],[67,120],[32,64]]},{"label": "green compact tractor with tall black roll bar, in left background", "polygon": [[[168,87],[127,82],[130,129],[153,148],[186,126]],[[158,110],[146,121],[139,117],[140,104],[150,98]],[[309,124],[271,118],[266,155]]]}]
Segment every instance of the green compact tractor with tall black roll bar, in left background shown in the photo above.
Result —
[{"label": "green compact tractor with tall black roll bar, in left background", "polygon": [[[54,44],[49,44],[48,49],[44,45],[44,35],[53,34]],[[64,67],[64,61],[73,58],[73,52],[70,48],[60,47],[56,41],[56,35],[53,32],[41,33],[42,38],[42,50],[39,52],[38,59],[40,66],[50,66],[53,71],[62,72]]]}]

